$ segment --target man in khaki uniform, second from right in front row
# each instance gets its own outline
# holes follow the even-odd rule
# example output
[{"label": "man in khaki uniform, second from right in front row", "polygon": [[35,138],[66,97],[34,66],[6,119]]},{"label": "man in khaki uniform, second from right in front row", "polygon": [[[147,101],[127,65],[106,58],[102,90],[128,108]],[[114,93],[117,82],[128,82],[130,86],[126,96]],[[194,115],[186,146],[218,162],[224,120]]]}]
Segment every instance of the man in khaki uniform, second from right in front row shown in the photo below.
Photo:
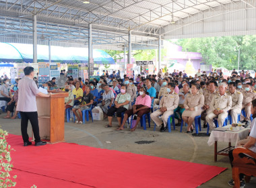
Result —
[{"label": "man in khaki uniform, second from right in front row", "polygon": [[237,114],[241,113],[243,94],[240,91],[236,90],[236,83],[230,82],[228,84],[228,95],[232,97],[232,107],[230,109],[230,116],[232,118],[232,123],[237,123]]}]

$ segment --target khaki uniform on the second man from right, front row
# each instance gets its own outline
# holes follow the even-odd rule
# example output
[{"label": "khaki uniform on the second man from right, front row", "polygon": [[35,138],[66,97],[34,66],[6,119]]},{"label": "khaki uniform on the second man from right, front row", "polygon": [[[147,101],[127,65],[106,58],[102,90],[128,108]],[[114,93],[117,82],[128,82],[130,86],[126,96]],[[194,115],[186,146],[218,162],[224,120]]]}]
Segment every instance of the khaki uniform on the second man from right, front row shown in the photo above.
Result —
[{"label": "khaki uniform on the second man from right, front row", "polygon": [[232,118],[232,123],[237,123],[237,114],[241,113],[242,110],[242,102],[243,102],[243,94],[240,91],[234,91],[234,93],[230,93],[228,91],[228,95],[232,98],[232,107],[230,109],[230,116]]}]

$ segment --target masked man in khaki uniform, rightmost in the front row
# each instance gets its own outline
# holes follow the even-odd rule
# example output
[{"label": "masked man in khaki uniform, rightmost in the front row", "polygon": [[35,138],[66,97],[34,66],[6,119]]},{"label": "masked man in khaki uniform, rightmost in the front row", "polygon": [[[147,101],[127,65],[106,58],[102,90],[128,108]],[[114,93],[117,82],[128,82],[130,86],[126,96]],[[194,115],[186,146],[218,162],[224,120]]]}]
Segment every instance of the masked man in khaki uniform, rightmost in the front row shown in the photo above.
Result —
[{"label": "masked man in khaki uniform, rightmost in the front row", "polygon": [[242,123],[248,123],[251,117],[251,101],[253,99],[256,99],[256,91],[253,91],[251,89],[252,84],[246,83],[245,84],[245,91],[243,91],[243,103],[242,103],[242,109],[245,109],[245,120],[242,121]]}]

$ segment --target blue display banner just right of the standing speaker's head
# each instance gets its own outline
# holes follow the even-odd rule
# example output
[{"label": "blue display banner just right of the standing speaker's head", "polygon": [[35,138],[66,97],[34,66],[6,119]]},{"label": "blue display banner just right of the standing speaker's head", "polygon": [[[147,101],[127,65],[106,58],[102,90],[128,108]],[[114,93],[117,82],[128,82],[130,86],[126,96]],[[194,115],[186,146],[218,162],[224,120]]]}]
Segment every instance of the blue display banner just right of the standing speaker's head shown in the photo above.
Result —
[{"label": "blue display banner just right of the standing speaker's head", "polygon": [[50,81],[50,64],[49,62],[38,62],[38,86]]}]

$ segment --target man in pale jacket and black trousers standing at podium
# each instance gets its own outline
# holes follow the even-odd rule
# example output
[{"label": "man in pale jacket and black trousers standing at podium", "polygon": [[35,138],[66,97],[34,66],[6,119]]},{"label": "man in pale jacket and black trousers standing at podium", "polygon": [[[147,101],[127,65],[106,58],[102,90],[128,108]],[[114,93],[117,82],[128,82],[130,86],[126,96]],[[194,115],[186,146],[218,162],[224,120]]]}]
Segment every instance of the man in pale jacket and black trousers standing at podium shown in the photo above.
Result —
[{"label": "man in pale jacket and black trousers standing at podium", "polygon": [[30,120],[32,130],[34,132],[35,146],[43,146],[46,142],[42,142],[40,139],[36,96],[50,97],[51,95],[46,95],[38,90],[36,83],[33,81],[34,68],[32,66],[26,66],[26,68],[24,68],[24,74],[25,77],[18,83],[18,97],[20,100],[18,100],[17,104],[17,111],[20,111],[20,115],[22,116],[21,126],[24,146],[32,144],[32,142],[28,140],[28,120]]}]

